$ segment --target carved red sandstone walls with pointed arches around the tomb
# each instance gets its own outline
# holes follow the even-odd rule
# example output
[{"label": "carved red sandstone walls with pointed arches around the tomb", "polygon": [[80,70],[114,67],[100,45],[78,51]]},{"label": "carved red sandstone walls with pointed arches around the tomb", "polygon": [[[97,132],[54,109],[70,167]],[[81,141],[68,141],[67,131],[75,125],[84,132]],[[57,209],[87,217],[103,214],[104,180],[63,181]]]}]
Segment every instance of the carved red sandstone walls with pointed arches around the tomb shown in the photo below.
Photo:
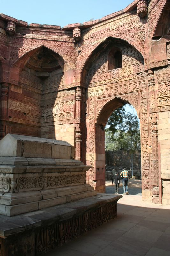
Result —
[{"label": "carved red sandstone walls with pointed arches around the tomb", "polygon": [[[91,166],[87,182],[104,192],[104,126],[112,111],[128,102],[140,117],[142,190],[161,204],[161,175],[170,180],[159,166],[170,159],[161,152],[170,149],[169,11],[167,0],[133,1],[120,12],[63,29],[28,26],[1,14],[0,138],[17,133],[24,141],[28,135],[53,148],[52,141],[38,138],[66,140],[75,146],[70,158]],[[48,146],[33,148],[29,157],[50,155]],[[4,155],[0,147],[1,156],[26,153],[19,144],[8,149]],[[63,148],[53,156],[67,154],[70,149]]]}]

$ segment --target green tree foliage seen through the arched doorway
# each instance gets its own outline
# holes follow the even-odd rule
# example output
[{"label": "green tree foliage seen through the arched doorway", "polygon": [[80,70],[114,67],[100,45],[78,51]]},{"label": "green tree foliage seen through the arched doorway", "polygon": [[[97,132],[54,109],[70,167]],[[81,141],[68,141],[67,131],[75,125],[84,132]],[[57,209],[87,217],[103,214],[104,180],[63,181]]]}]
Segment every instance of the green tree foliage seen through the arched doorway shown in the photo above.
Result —
[{"label": "green tree foliage seen through the arched doorway", "polygon": [[124,149],[131,153],[140,149],[139,121],[136,115],[117,108],[109,117],[105,129],[107,150]]}]

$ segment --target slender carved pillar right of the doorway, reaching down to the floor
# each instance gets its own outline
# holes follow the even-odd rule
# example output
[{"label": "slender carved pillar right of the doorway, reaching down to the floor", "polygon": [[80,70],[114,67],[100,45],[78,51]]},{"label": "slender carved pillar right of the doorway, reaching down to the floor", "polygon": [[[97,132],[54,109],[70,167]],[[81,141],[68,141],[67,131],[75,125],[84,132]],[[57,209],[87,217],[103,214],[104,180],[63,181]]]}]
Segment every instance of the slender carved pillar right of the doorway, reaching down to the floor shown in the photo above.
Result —
[{"label": "slender carved pillar right of the doorway, reaching down to the floor", "polygon": [[152,202],[160,204],[159,198],[159,162],[158,162],[158,128],[157,117],[151,118],[151,137],[152,137]]}]

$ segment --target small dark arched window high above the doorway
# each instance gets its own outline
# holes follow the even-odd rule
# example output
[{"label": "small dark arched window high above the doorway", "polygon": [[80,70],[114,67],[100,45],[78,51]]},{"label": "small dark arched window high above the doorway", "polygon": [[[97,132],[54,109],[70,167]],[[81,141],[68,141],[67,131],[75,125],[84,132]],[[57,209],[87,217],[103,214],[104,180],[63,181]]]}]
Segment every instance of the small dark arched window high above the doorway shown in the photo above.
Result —
[{"label": "small dark arched window high above the doorway", "polygon": [[122,51],[114,47],[108,54],[108,70],[122,68]]}]

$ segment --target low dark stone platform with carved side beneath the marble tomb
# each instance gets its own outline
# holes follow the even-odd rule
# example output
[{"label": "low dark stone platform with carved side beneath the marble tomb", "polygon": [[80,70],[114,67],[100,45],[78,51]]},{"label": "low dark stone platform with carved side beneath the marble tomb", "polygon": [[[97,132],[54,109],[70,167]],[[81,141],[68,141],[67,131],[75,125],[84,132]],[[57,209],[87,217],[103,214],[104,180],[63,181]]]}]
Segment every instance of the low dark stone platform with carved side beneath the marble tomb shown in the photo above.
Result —
[{"label": "low dark stone platform with carved side beneath the marble tomb", "polygon": [[97,194],[17,216],[0,215],[0,255],[35,256],[117,216],[122,195]]}]

